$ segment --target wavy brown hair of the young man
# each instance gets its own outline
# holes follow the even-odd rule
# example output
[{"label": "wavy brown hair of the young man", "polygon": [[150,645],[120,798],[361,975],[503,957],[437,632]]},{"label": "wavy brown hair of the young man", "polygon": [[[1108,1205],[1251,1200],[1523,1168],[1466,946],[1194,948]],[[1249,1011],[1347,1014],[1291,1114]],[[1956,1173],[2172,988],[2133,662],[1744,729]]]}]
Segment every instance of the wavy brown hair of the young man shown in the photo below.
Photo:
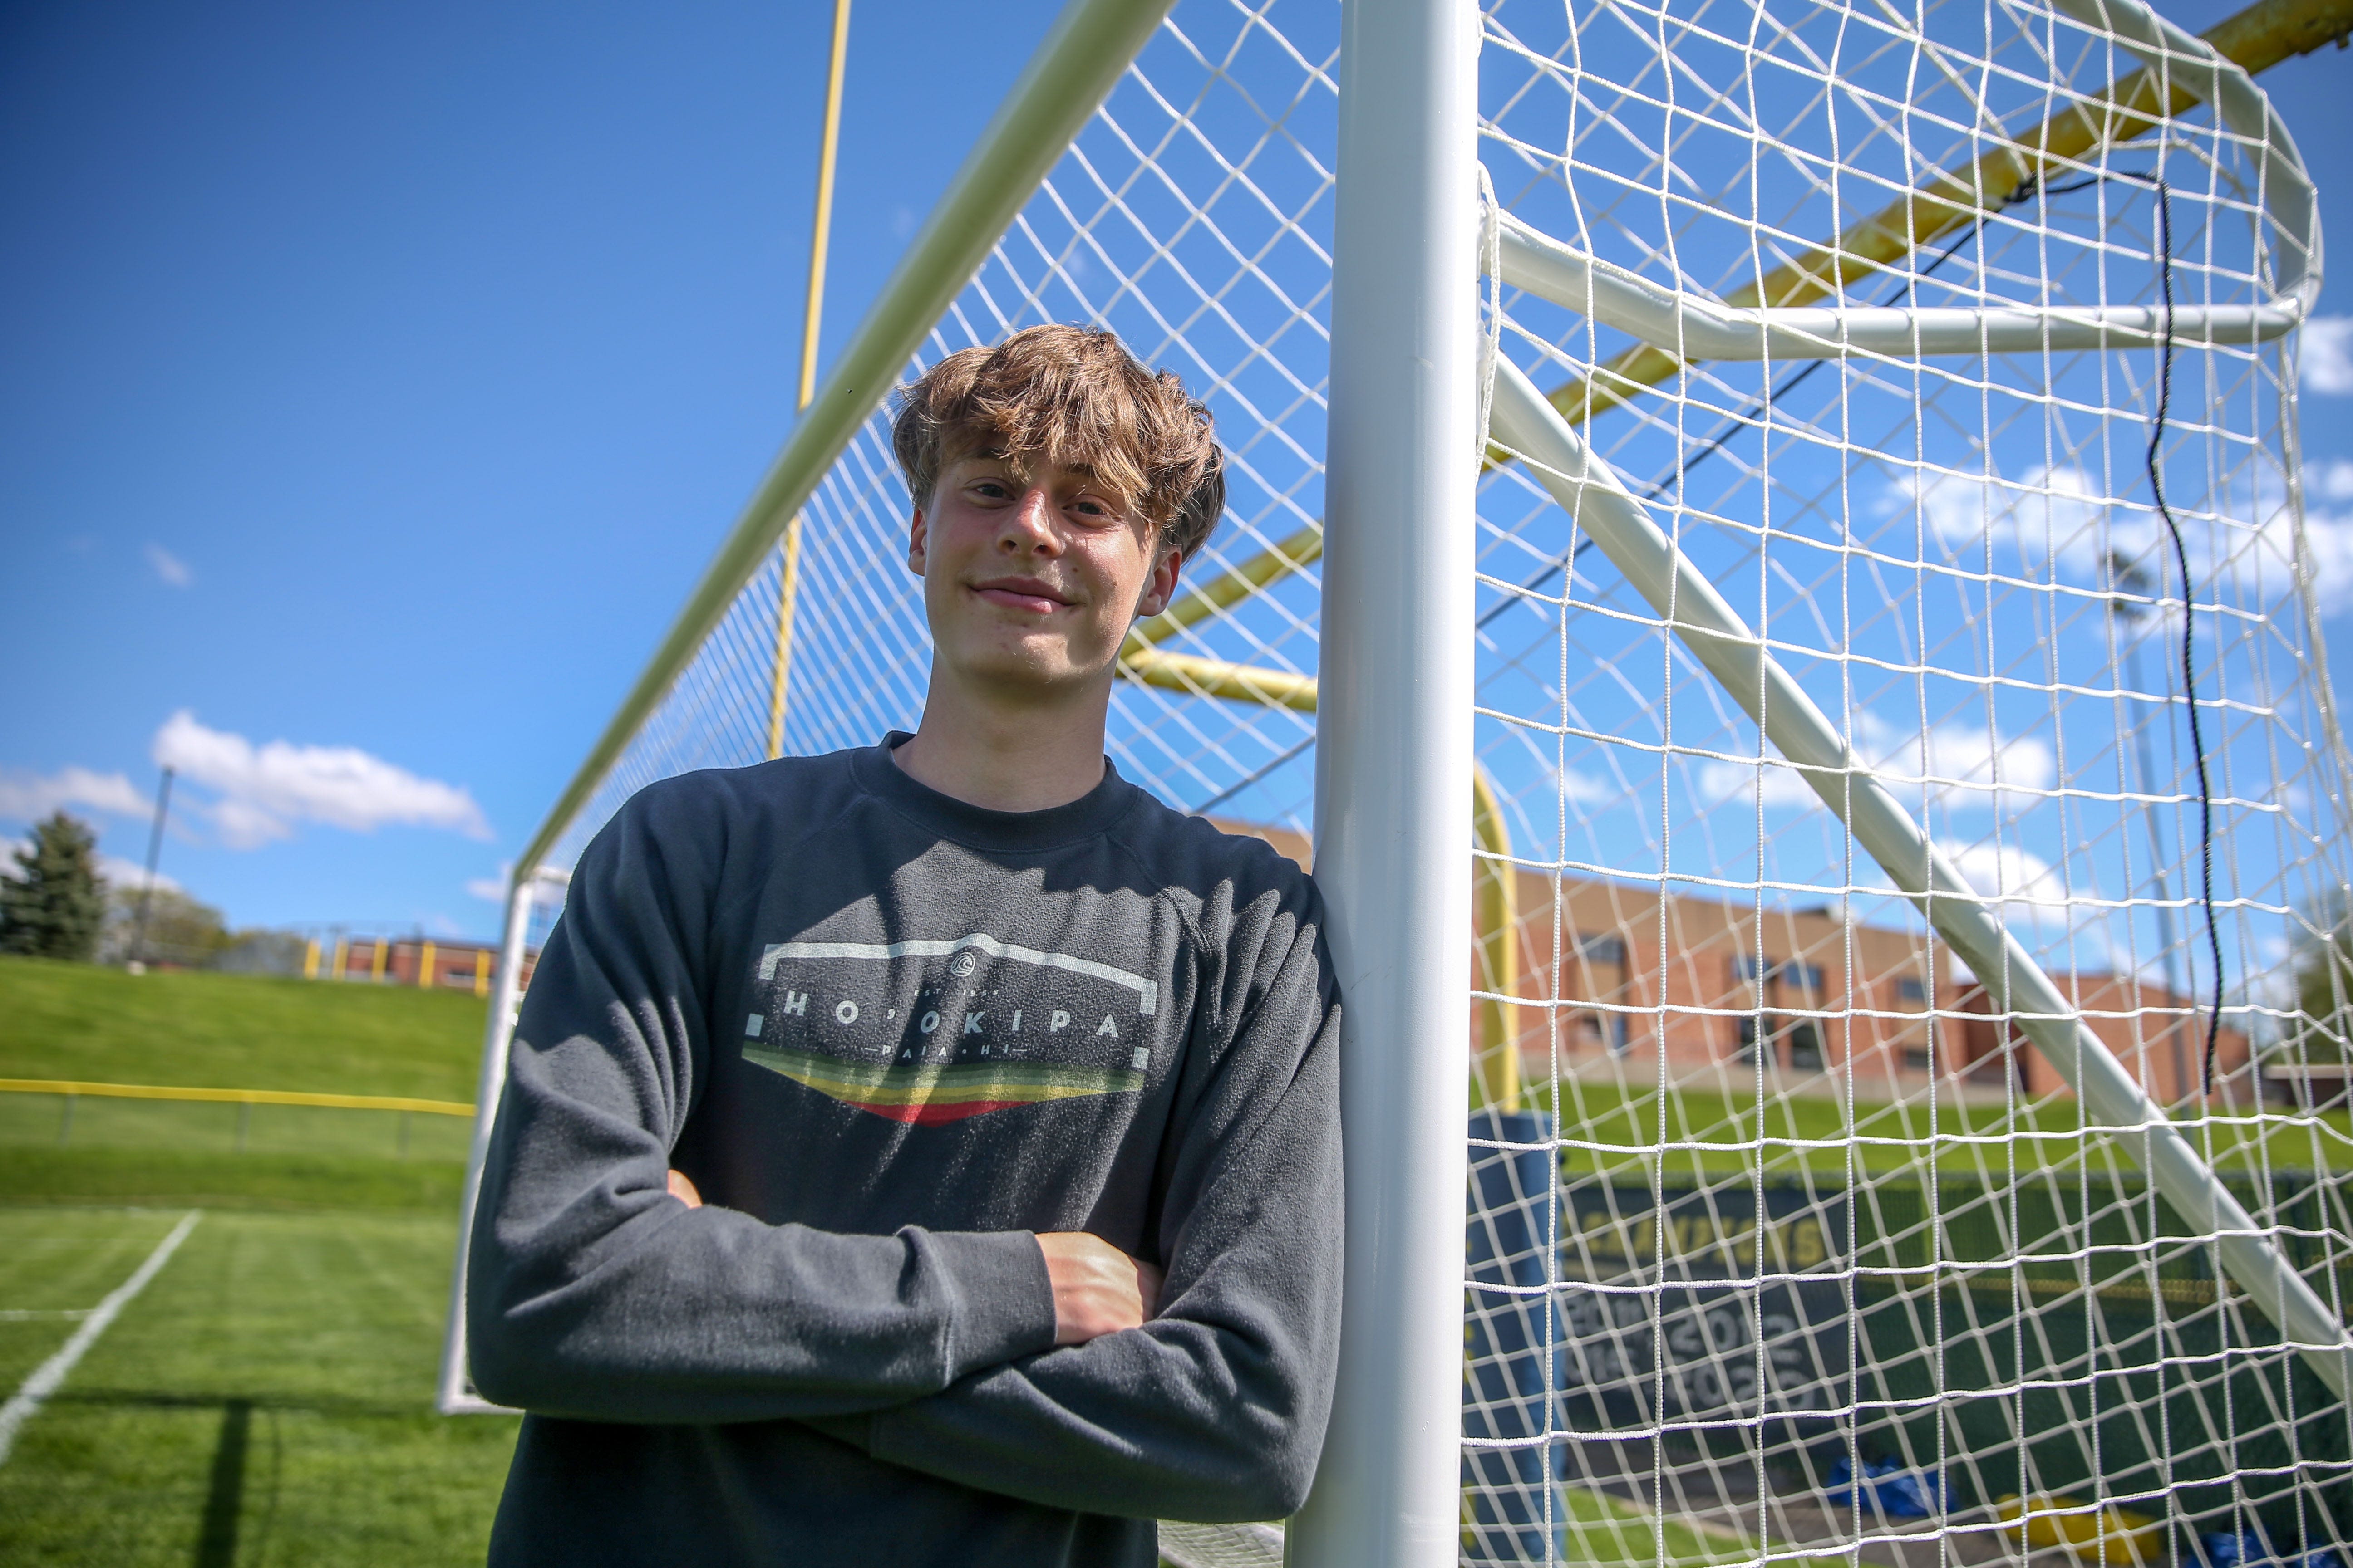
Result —
[{"label": "wavy brown hair of the young man", "polygon": [[892,451],[915,505],[932,503],[941,468],[986,451],[1094,473],[1179,555],[1200,550],[1226,508],[1209,409],[1111,331],[1024,327],[995,348],[960,348],[896,404]]}]

